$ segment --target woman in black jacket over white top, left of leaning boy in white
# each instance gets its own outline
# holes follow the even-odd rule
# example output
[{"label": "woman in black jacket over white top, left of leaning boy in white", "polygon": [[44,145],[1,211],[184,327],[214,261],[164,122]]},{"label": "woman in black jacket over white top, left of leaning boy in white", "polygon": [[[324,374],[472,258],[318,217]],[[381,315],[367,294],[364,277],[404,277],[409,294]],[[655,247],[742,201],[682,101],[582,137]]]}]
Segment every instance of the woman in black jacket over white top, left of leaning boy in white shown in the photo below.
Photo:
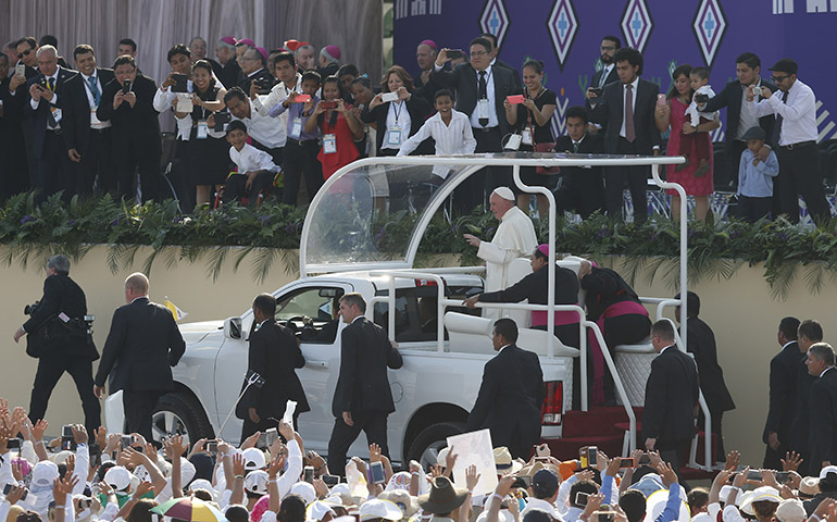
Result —
[{"label": "woman in black jacket over white top, left of leaning boy in white", "polygon": [[[413,96],[413,78],[404,67],[392,65],[384,73],[380,82],[380,94],[372,98],[368,107],[361,112],[364,123],[375,123],[377,130],[378,156],[396,156],[401,144],[418,132],[424,124],[430,105],[421,96]],[[396,101],[384,101],[384,96],[396,94]],[[415,154],[432,154],[432,147],[425,141]]]}]

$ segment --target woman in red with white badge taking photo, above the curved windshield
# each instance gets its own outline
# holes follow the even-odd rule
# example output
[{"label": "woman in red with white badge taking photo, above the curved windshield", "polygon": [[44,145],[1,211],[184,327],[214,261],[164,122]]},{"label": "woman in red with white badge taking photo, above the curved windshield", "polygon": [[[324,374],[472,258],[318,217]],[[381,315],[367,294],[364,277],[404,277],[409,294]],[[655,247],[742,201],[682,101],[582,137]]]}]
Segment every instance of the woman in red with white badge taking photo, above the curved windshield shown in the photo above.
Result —
[{"label": "woman in red with white badge taking photo, above the curved windshield", "polygon": [[323,146],[316,157],[323,164],[323,179],[361,156],[354,141],[363,136],[363,124],[345,100],[346,91],[339,77],[328,76],[323,82],[323,99],[314,107],[314,117],[305,122],[307,133],[317,127],[323,132]]}]

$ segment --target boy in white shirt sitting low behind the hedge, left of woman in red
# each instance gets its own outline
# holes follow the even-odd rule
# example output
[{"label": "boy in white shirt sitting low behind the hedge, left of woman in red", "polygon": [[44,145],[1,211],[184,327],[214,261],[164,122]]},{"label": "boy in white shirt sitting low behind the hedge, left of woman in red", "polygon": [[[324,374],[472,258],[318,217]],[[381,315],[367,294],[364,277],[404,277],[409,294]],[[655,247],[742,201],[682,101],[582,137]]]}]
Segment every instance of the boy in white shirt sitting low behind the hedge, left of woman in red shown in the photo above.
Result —
[{"label": "boy in white shirt sitting low behind the hedge, left of woman in red", "polygon": [[240,199],[241,203],[247,204],[255,201],[259,192],[264,196],[271,189],[279,167],[273,162],[271,154],[247,142],[247,126],[243,122],[229,122],[227,141],[232,145],[229,159],[236,164],[238,172],[230,172],[227,177],[224,202]]}]

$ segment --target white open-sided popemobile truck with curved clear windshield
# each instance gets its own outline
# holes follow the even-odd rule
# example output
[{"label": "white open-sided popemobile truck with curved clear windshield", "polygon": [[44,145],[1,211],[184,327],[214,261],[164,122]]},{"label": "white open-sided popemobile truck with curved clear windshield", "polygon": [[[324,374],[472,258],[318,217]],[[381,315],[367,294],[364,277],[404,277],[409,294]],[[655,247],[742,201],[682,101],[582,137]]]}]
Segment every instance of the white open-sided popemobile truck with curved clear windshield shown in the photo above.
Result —
[{"label": "white open-sided popemobile truck with curved clear windshield", "polygon": [[[349,291],[364,296],[366,315],[382,325],[399,344],[403,368],[389,371],[396,412],[389,415],[388,437],[393,462],[418,460],[435,463],[437,452],[448,436],[464,426],[479,388],[483,366],[495,356],[490,341],[491,322],[480,316],[482,310],[461,306],[471,290],[482,290],[478,273],[484,266],[414,269],[423,235],[433,216],[445,209],[453,189],[479,169],[508,166],[514,182],[527,192],[544,194],[550,201],[550,261],[554,259],[554,199],[549,190],[528,187],[521,182],[521,166],[583,166],[642,164],[664,165],[683,162],[671,157],[612,157],[589,154],[504,153],[462,157],[370,158],[345,166],[325,182],[312,201],[302,228],[300,245],[301,277],[274,291],[276,319],[297,331],[307,330],[301,341],[305,366],[298,375],[308,395],[311,411],[299,419],[299,432],[305,447],[325,455],[334,425],[332,397],[340,366],[340,332],[343,324],[334,315],[335,302]],[[680,192],[682,214],[686,215],[686,197],[679,185],[660,179],[658,186]],[[682,238],[686,223],[680,226]],[[451,234],[458,231],[451,228]],[[559,265],[577,271],[580,258],[565,258]],[[550,282],[554,270],[550,270]],[[512,262],[510,284],[530,273],[528,259]],[[318,275],[315,275],[318,274]],[[680,245],[680,288],[686,282],[686,245]],[[582,290],[583,291],[583,290]],[[550,283],[549,299],[554,287]],[[683,295],[683,294],[682,294]],[[584,296],[579,296],[584,303]],[[674,299],[642,298],[657,306],[655,318],[665,307],[686,303]],[[479,303],[480,308],[517,310],[574,310],[584,319],[579,307],[537,304]],[[242,307],[243,308],[243,307]],[[686,313],[685,310],[682,312]],[[303,318],[313,319],[305,328]],[[553,314],[549,313],[548,330]],[[654,315],[652,314],[652,319]],[[154,437],[185,434],[190,440],[217,436],[238,442],[241,423],[227,415],[238,398],[247,370],[247,335],[253,316],[247,310],[240,318],[180,324],[186,353],[173,369],[175,391],[161,398],[153,420]],[[330,324],[329,324],[330,323]],[[528,326],[528,325],[520,325]],[[679,337],[686,323],[680,325]],[[566,347],[545,331],[522,327],[517,345],[540,356],[547,394],[542,407],[541,437],[545,442],[562,434],[562,417],[572,405],[573,364],[582,364],[582,410],[587,411],[586,330],[591,328],[604,346],[597,325],[582,321],[582,349]],[[395,335],[392,334],[395,333]],[[623,452],[636,447],[636,418],[632,406],[642,406],[645,382],[650,360],[655,356],[647,345],[617,347],[615,361],[603,350],[605,363],[616,383],[617,398],[625,405],[628,428]],[[109,398],[105,419],[111,432],[122,431],[121,394]],[[705,432],[710,415],[705,413]],[[223,426],[223,430],[222,430]],[[360,439],[349,455],[365,455]],[[696,437],[697,442],[697,437]],[[709,444],[705,447],[709,448]],[[690,465],[696,463],[692,445]],[[703,462],[710,462],[709,451]]]}]

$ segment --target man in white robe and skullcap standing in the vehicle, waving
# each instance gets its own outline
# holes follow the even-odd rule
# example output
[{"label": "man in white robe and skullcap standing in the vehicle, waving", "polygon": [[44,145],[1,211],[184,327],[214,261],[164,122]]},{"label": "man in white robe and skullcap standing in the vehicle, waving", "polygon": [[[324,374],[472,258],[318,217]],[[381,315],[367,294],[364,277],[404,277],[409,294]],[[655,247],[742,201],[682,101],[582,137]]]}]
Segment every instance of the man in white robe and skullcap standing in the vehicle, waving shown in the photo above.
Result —
[{"label": "man in white robe and skullcap standing in the vehicle, waving", "polygon": [[[485,290],[497,291],[509,286],[509,264],[517,258],[532,256],[538,247],[538,238],[532,219],[515,207],[514,192],[509,187],[496,188],[488,203],[495,217],[500,221],[495,237],[490,241],[480,240],[471,234],[464,234],[463,237],[469,245],[478,248],[476,254],[486,262]],[[499,319],[500,312],[497,309],[487,310],[483,315]],[[515,321],[523,324],[519,321],[521,316],[515,315],[512,315]]]}]

